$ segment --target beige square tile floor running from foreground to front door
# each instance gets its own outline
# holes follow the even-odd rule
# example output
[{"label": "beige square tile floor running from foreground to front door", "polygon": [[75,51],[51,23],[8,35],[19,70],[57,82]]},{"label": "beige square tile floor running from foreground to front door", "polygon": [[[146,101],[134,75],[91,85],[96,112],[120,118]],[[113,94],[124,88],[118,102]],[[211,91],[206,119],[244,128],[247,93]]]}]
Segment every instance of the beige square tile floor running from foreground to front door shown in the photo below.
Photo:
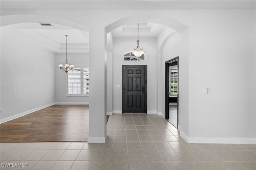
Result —
[{"label": "beige square tile floor running from foreground to front door", "polygon": [[256,170],[255,144],[188,144],[161,116],[114,114],[107,130],[105,144],[1,143],[0,169]]}]

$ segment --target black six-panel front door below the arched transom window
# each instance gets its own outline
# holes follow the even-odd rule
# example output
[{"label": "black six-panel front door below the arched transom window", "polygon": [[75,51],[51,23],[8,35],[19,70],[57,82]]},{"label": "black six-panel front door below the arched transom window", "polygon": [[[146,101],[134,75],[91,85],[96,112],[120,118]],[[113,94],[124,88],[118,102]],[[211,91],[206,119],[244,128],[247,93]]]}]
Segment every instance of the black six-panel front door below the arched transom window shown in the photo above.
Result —
[{"label": "black six-panel front door below the arched transom window", "polygon": [[146,65],[123,65],[123,113],[147,113],[146,76]]}]

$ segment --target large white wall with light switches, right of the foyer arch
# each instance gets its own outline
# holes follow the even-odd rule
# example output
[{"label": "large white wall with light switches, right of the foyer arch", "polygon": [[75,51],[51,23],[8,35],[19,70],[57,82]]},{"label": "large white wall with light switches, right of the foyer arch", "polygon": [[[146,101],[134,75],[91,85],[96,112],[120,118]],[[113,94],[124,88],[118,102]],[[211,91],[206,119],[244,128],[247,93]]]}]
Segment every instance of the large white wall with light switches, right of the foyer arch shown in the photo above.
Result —
[{"label": "large white wall with light switches, right of the foyer arch", "polygon": [[[191,17],[189,136],[249,141],[256,137],[255,10],[202,10]],[[206,87],[210,94],[199,94]]]}]

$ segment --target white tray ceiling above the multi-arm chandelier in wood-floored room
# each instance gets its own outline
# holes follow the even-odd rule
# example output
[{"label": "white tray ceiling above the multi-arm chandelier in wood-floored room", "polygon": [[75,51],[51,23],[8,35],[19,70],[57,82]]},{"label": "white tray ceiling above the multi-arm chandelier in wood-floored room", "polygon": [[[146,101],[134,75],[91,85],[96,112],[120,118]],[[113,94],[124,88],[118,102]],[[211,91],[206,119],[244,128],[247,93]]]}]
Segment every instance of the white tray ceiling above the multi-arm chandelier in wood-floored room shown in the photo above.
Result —
[{"label": "white tray ceiling above the multi-arm chandelier in wood-floored room", "polygon": [[13,27],[26,36],[36,40],[38,46],[54,53],[66,52],[66,36],[68,51],[72,53],[89,52],[89,32],[72,27],[52,24],[41,26],[39,23],[14,24]]}]

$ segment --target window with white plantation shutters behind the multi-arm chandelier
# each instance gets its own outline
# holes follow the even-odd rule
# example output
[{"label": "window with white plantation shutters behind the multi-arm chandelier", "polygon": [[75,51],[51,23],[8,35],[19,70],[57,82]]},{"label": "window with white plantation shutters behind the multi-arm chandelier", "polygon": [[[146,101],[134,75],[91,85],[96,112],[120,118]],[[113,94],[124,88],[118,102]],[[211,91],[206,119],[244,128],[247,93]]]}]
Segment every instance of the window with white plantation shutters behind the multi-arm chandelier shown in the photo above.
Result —
[{"label": "window with white plantation shutters behind the multi-arm chandelier", "polygon": [[67,96],[89,96],[89,68],[74,67],[67,75]]}]

